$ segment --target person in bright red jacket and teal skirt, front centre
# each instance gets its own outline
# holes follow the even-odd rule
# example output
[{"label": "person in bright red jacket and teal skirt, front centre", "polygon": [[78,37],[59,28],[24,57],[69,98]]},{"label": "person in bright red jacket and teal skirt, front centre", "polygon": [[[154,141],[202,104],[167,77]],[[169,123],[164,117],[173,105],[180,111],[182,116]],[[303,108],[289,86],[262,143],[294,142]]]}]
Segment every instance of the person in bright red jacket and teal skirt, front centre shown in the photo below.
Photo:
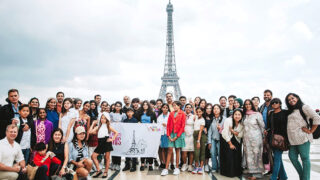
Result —
[{"label": "person in bright red jacket and teal skirt, front centre", "polygon": [[173,148],[176,151],[176,168],[173,171],[174,175],[180,174],[179,160],[180,160],[180,149],[185,147],[184,141],[184,127],[186,125],[186,114],[181,110],[181,103],[179,101],[173,102],[174,111],[170,113],[167,123],[167,136],[168,142],[168,155],[166,168],[162,170],[161,175],[165,176],[168,174],[168,166],[173,154]]}]

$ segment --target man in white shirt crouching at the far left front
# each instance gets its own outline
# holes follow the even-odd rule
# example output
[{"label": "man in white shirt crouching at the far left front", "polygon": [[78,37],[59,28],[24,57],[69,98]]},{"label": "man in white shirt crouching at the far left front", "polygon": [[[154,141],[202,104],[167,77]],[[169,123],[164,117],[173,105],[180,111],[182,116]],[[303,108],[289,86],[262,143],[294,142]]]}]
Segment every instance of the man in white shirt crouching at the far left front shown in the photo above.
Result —
[{"label": "man in white shirt crouching at the far left front", "polygon": [[[20,145],[15,142],[18,127],[10,124],[6,129],[6,137],[0,140],[0,179],[14,180],[19,172],[26,173],[26,164]],[[16,164],[13,162],[16,161]]]}]

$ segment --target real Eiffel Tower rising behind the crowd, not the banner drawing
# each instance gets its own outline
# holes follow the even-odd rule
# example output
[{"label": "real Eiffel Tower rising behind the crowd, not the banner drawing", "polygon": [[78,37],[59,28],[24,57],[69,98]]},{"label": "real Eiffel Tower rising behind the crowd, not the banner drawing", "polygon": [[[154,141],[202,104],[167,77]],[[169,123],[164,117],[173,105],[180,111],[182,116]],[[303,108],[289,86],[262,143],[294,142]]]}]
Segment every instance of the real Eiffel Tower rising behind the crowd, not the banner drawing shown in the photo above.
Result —
[{"label": "real Eiffel Tower rising behind the crowd, not the banner drawing", "polygon": [[179,77],[177,75],[176,60],[174,54],[173,24],[172,24],[173,6],[169,0],[167,5],[167,44],[166,61],[164,65],[164,75],[161,77],[162,85],[159,93],[159,99],[165,100],[167,88],[174,88],[174,98],[177,100],[181,96]]}]

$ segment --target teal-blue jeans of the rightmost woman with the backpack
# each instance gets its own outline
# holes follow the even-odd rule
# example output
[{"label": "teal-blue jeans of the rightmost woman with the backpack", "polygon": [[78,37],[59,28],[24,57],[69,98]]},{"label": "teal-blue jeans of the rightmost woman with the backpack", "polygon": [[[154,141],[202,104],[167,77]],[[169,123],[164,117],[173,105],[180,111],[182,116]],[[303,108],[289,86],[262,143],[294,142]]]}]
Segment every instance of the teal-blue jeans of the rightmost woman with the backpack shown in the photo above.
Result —
[{"label": "teal-blue jeans of the rightmost woman with the backpack", "polygon": [[[311,164],[310,164],[309,154],[310,154],[309,141],[301,145],[290,146],[289,159],[292,165],[294,166],[294,168],[296,169],[296,171],[298,172],[300,179],[303,179],[303,180],[310,180]],[[299,155],[302,160],[302,166],[298,160]]]}]

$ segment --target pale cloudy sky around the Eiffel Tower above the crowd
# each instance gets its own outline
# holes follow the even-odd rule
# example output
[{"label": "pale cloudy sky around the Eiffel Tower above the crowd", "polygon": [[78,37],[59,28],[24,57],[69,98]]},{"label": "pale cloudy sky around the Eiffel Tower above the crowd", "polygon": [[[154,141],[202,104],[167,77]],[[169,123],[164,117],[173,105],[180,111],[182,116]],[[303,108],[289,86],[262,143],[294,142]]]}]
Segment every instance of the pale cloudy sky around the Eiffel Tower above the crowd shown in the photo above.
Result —
[{"label": "pale cloudy sky around the Eiffel Tower above the crowd", "polygon": [[[64,91],[159,95],[167,0],[1,0],[0,103],[10,88],[44,102]],[[298,93],[318,108],[320,1],[173,0],[182,93],[284,99]]]}]

